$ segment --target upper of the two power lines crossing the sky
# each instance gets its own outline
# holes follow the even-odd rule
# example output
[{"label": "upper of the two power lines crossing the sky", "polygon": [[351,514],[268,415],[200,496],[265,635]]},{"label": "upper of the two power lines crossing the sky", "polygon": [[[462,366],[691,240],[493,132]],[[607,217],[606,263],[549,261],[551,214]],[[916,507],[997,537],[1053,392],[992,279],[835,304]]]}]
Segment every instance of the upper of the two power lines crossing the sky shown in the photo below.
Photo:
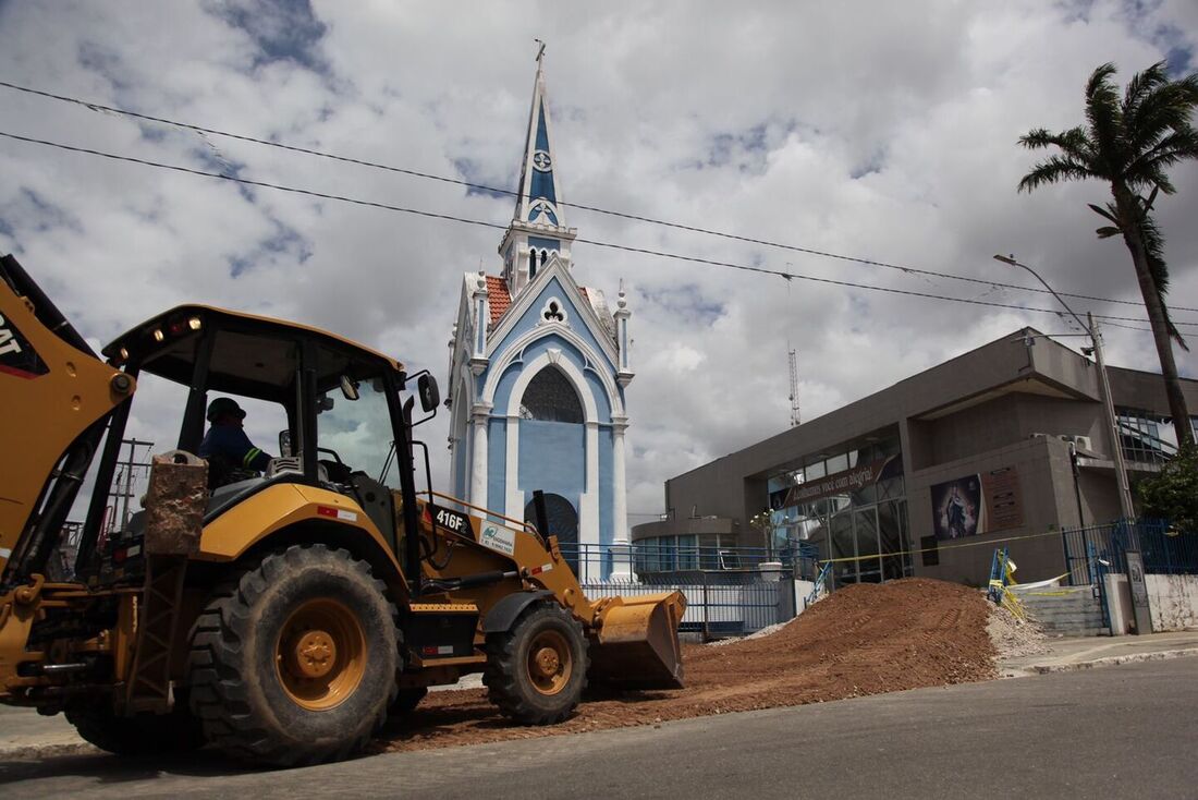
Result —
[{"label": "upper of the two power lines crossing the sky", "polygon": [[[379,163],[379,162],[365,161],[363,158],[355,158],[352,156],[341,156],[341,155],[337,155],[337,154],[332,154],[332,152],[326,152],[326,151],[322,151],[322,150],[314,150],[311,148],[301,148],[301,146],[297,146],[297,145],[284,144],[282,142],[271,142],[268,139],[260,139],[260,138],[247,136],[247,134],[243,134],[243,133],[231,133],[229,131],[220,131],[218,128],[204,127],[204,126],[200,126],[200,125],[193,125],[190,122],[180,122],[177,120],[171,120],[171,119],[167,119],[167,118],[162,118],[162,116],[152,116],[150,114],[141,114],[139,112],[131,112],[128,109],[116,108],[116,107],[113,107],[113,106],[104,106],[102,103],[92,103],[92,102],[87,102],[85,100],[80,100],[78,97],[68,97],[66,95],[56,95],[54,92],[48,92],[48,91],[43,91],[43,90],[40,90],[40,89],[31,89],[29,86],[20,86],[20,85],[13,84],[13,83],[8,83],[6,80],[0,80],[0,86],[7,88],[7,89],[12,89],[14,91],[25,92],[28,95],[35,95],[35,96],[38,96],[38,97],[46,97],[48,100],[56,100],[56,101],[65,102],[65,103],[72,103],[72,104],[75,104],[75,106],[83,106],[84,108],[87,108],[87,109],[93,110],[93,112],[105,112],[105,113],[110,113],[110,114],[119,114],[119,115],[122,115],[122,116],[128,116],[131,119],[145,120],[147,122],[157,122],[159,125],[168,125],[168,126],[171,126],[171,127],[183,128],[183,130],[188,130],[188,131],[195,131],[196,133],[201,133],[201,134],[219,136],[219,137],[225,137],[225,138],[229,138],[229,139],[236,139],[236,140],[240,140],[240,142],[248,142],[248,143],[252,143],[252,144],[265,145],[267,148],[278,148],[280,150],[288,150],[288,151],[291,151],[291,152],[298,152],[298,154],[305,155],[305,156],[315,156],[317,158],[328,158],[331,161],[338,161],[338,162],[343,162],[343,163],[347,163],[347,164],[357,164],[359,167],[369,167],[371,169],[381,169],[381,170],[389,172],[389,173],[397,173],[397,174],[400,174],[400,175],[407,175],[410,178],[419,178],[419,179],[424,179],[424,180],[440,181],[442,184],[450,184],[450,185],[454,185],[454,186],[462,186],[465,188],[472,188],[472,190],[477,190],[477,191],[482,191],[482,192],[490,192],[492,194],[504,194],[504,196],[508,196],[508,197],[520,197],[519,192],[514,192],[514,191],[508,190],[508,188],[500,188],[500,187],[495,187],[495,186],[488,186],[485,184],[474,184],[472,181],[465,181],[465,180],[461,180],[461,179],[458,179],[458,178],[448,178],[446,175],[436,175],[434,173],[425,173],[425,172],[420,172],[420,170],[416,170],[416,169],[406,169],[406,168],[403,168],[403,167],[394,167],[394,166],[391,166],[391,164],[382,164],[382,163]],[[855,255],[845,255],[842,253],[833,253],[830,251],[821,251],[821,249],[815,249],[815,248],[810,248],[810,247],[801,247],[801,246],[798,246],[798,245],[787,245],[787,243],[783,243],[783,242],[776,242],[776,241],[772,241],[772,240],[768,240],[768,239],[757,239],[755,236],[742,236],[739,234],[731,234],[731,233],[727,233],[727,231],[714,230],[714,229],[710,229],[710,228],[702,228],[702,227],[698,227],[698,225],[689,225],[689,224],[684,224],[684,223],[679,223],[679,222],[670,222],[667,219],[657,219],[654,217],[646,217],[646,216],[642,216],[642,215],[629,213],[629,212],[624,212],[624,211],[613,211],[611,209],[603,209],[603,207],[599,207],[599,206],[586,205],[586,204],[581,204],[581,203],[561,201],[559,205],[563,205],[563,206],[567,206],[567,207],[571,207],[571,209],[577,209],[580,211],[591,211],[593,213],[601,213],[601,215],[605,215],[605,216],[617,217],[617,218],[621,218],[621,219],[629,219],[631,222],[643,222],[643,223],[648,223],[648,224],[661,225],[661,227],[665,227],[665,228],[673,228],[676,230],[685,230],[688,233],[703,234],[706,236],[716,236],[716,237],[720,237],[720,239],[728,239],[728,240],[732,240],[732,241],[740,241],[740,242],[745,242],[745,243],[750,243],[750,245],[760,245],[762,247],[774,247],[774,248],[778,248],[778,249],[786,249],[786,251],[791,251],[791,252],[795,252],[795,253],[804,253],[806,255],[817,255],[817,257],[821,257],[821,258],[830,258],[830,259],[836,259],[836,260],[842,260],[842,261],[851,261],[851,263],[854,263],[854,264],[863,264],[863,265],[866,265],[866,266],[878,266],[878,267],[883,267],[883,269],[888,269],[888,270],[898,270],[898,271],[908,273],[908,275],[922,275],[922,276],[928,276],[928,277],[945,278],[945,279],[950,279],[950,281],[962,281],[962,282],[966,282],[966,283],[975,283],[975,284],[981,284],[981,285],[986,285],[986,287],[997,287],[997,288],[1002,288],[1002,289],[1014,289],[1016,291],[1034,291],[1034,293],[1039,293],[1039,294],[1048,294],[1047,290],[1041,289],[1039,287],[1023,287],[1023,285],[1017,285],[1017,284],[1012,284],[1012,283],[999,283],[999,282],[996,282],[996,281],[987,281],[985,278],[974,278],[974,277],[968,277],[968,276],[963,276],[963,275],[952,275],[950,272],[937,272],[934,270],[925,270],[925,269],[920,269],[920,267],[915,267],[915,266],[903,266],[901,264],[891,264],[891,263],[888,263],[888,261],[878,261],[878,260],[875,260],[875,259],[859,258],[859,257],[855,257]],[[1142,303],[1139,303],[1137,301],[1133,301],[1133,300],[1117,300],[1117,299],[1113,299],[1113,297],[1095,297],[1093,295],[1075,294],[1075,293],[1069,293],[1069,291],[1061,291],[1059,294],[1061,294],[1061,295],[1064,295],[1066,297],[1075,297],[1075,299],[1078,299],[1078,300],[1089,300],[1089,301],[1093,301],[1093,302],[1109,302],[1109,303],[1127,305],[1127,306],[1139,306],[1139,305],[1142,305]],[[1198,312],[1198,308],[1188,308],[1186,306],[1170,306],[1170,308],[1173,311]]]}]

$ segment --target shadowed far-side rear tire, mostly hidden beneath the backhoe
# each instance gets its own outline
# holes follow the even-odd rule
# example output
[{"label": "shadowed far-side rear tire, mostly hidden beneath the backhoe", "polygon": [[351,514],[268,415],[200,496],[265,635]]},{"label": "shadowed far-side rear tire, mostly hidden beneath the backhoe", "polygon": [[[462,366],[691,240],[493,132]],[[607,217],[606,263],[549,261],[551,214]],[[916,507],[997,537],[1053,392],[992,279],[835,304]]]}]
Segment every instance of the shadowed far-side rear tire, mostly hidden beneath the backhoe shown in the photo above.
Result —
[{"label": "shadowed far-side rear tire, mostly hidden beneath the backhoe", "polygon": [[117,756],[167,756],[204,746],[200,721],[182,702],[170,714],[120,717],[105,704],[68,708],[66,717],[84,741]]}]

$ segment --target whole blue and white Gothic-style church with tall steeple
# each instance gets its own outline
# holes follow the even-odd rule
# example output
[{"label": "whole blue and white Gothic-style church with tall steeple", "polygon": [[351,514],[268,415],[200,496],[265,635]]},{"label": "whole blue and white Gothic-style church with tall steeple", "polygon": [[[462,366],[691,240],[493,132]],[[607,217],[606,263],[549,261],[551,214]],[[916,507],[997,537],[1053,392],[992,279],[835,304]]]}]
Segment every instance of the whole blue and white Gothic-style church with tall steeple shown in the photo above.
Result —
[{"label": "whole blue and white Gothic-style church with tall steeple", "polygon": [[[453,494],[532,519],[532,493],[541,489],[551,533],[567,553],[576,542],[591,559],[579,565],[580,577],[628,578],[630,312],[623,290],[613,312],[603,291],[575,282],[575,236],[538,58],[520,196],[498,249],[502,272],[464,276],[449,342]],[[593,560],[600,554],[603,567]]]}]

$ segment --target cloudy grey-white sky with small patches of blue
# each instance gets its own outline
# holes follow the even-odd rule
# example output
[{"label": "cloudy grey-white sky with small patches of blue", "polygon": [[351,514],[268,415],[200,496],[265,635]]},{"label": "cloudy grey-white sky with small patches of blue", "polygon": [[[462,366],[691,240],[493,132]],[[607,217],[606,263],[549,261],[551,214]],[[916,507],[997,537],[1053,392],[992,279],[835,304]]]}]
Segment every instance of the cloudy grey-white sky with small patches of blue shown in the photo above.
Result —
[{"label": "cloudy grey-white sky with small patches of blue", "polygon": [[[1029,128],[1082,120],[1120,79],[1198,70],[1193,0],[454,4],[0,0],[0,80],[432,175],[514,188],[547,42],[565,200],[757,240],[1136,300],[1097,241],[1097,184],[1017,194]],[[0,88],[0,131],[504,225],[509,198],[99,113]],[[1174,306],[1198,308],[1198,167],[1158,203]],[[1049,297],[571,210],[580,237],[804,276],[1051,308]],[[501,231],[317,200],[0,138],[0,252],[97,344],[199,301],[328,327],[444,381],[461,273],[498,272]],[[904,297],[577,245],[581,283],[634,312],[629,511],[662,481],[782,431],[787,350],[804,419],[1023,325],[1035,311]],[[1143,318],[1136,306],[1072,300]],[[1176,311],[1198,324],[1198,311]],[[1109,361],[1156,369],[1146,332]],[[1198,325],[1185,329],[1198,353]],[[1077,339],[1065,339],[1077,343]],[[1198,355],[1180,354],[1187,377]],[[159,397],[170,392],[156,387]],[[169,414],[133,433],[170,443]],[[444,443],[446,417],[425,429]],[[259,431],[265,437],[268,428]],[[432,447],[444,480],[444,447]],[[630,522],[647,517],[633,516]]]}]

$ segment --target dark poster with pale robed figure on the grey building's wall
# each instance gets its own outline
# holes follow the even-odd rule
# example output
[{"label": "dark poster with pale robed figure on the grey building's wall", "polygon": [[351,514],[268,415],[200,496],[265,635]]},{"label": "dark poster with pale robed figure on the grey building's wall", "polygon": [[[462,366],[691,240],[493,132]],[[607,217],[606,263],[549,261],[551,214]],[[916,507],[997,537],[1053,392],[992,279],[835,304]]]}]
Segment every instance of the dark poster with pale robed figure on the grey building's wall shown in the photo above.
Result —
[{"label": "dark poster with pale robed figure on the grey building's wall", "polygon": [[932,486],[937,539],[963,539],[1023,524],[1019,475],[1014,467]]}]

